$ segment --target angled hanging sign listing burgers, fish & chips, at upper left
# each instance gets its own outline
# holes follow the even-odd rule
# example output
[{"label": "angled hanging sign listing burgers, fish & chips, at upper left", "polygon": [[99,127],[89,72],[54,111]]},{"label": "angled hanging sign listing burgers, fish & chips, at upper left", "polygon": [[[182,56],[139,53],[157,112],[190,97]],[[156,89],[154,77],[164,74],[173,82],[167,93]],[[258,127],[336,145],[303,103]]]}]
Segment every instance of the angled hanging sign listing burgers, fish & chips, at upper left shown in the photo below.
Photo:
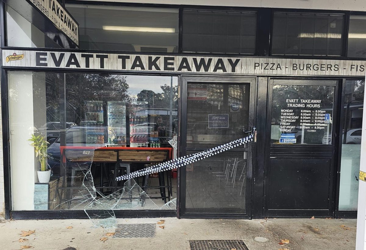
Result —
[{"label": "angled hanging sign listing burgers, fish & chips, at upper left", "polygon": [[28,2],[79,46],[79,25],[59,1],[28,0]]}]

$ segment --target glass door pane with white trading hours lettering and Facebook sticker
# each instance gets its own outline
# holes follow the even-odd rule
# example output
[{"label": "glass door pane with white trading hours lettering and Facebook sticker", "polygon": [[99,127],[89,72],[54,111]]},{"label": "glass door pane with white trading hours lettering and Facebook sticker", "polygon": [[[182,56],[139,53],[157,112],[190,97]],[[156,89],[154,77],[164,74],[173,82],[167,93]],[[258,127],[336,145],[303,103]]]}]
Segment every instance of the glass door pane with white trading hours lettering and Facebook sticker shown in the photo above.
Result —
[{"label": "glass door pane with white trading hours lettering and Facebook sticker", "polygon": [[334,86],[273,85],[271,144],[332,144]]}]

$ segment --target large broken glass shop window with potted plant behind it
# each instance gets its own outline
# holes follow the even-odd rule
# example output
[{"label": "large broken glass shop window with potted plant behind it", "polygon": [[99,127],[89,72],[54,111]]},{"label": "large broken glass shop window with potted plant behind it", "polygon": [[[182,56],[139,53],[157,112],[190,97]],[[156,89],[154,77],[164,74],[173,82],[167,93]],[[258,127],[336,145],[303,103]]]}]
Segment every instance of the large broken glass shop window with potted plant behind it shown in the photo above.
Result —
[{"label": "large broken glass shop window with potted plant behind it", "polygon": [[13,210],[175,209],[175,170],[116,177],[176,157],[177,77],[9,71],[8,86]]}]

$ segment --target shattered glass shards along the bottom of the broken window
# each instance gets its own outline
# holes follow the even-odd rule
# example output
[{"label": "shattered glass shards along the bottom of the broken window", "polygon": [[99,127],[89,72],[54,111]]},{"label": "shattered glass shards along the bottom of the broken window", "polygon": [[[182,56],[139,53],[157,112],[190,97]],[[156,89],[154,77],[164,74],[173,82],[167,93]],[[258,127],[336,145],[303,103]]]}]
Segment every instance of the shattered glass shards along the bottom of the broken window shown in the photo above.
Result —
[{"label": "shattered glass shards along the bottom of the broken window", "polygon": [[73,188],[68,191],[71,199],[56,206],[55,209],[82,209],[90,218],[94,228],[103,227],[105,229],[115,228],[117,220],[113,210],[138,210],[138,209],[175,209],[176,199],[169,201],[162,207],[156,205],[134,179],[128,179],[123,188],[116,190],[112,194],[104,195],[94,186],[91,168],[85,165],[75,164],[72,178],[79,178],[83,175],[81,185],[76,185],[73,179]]}]

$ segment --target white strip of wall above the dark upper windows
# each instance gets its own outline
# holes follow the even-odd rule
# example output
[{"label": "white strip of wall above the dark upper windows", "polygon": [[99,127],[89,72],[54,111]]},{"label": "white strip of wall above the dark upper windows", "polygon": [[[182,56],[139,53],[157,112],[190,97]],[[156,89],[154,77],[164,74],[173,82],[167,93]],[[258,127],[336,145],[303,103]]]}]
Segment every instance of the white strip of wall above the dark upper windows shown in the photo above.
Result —
[{"label": "white strip of wall above the dark upper windows", "polygon": [[[86,1],[86,0],[85,0]],[[89,1],[89,0],[88,0]],[[320,10],[366,11],[365,0],[99,0],[122,3],[187,4],[236,7],[300,8]]]}]

